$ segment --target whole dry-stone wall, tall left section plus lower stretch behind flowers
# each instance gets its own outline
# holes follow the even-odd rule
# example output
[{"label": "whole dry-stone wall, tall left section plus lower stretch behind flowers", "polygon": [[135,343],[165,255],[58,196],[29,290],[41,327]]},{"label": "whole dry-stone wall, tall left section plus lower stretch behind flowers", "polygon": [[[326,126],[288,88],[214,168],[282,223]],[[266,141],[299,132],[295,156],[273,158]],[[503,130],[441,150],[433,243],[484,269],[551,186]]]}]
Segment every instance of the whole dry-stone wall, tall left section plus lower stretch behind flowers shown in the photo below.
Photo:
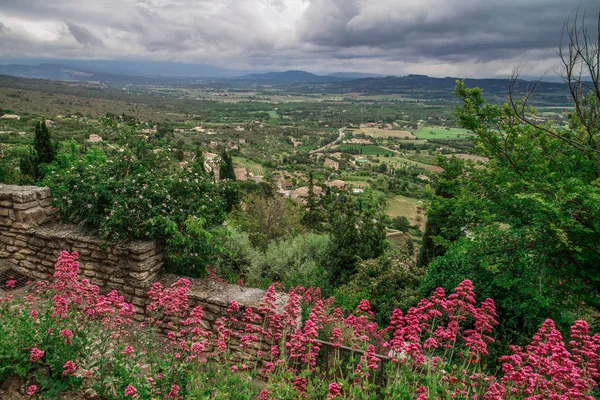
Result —
[{"label": "whole dry-stone wall, tall left section plus lower stretch behind flowers", "polygon": [[[107,293],[116,289],[144,314],[147,291],[154,282],[170,286],[175,275],[161,274],[163,254],[156,242],[103,244],[77,227],[51,222],[50,189],[37,186],[0,185],[0,272],[12,268],[26,276],[46,279],[54,272],[61,251],[79,252],[80,273]],[[192,279],[190,303],[202,306],[205,329],[227,315],[229,302],[242,309],[259,307],[264,290],[242,288],[204,279]],[[283,306],[287,295],[280,295]]]}]

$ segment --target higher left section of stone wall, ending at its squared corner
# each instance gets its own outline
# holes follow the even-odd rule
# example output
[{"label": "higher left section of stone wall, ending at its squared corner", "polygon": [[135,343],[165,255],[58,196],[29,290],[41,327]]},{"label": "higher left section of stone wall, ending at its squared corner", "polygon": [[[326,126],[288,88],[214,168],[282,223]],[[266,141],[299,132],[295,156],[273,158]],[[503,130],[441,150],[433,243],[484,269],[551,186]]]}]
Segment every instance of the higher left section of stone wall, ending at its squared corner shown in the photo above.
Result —
[{"label": "higher left section of stone wall, ending at its squared corner", "polygon": [[79,252],[81,274],[102,292],[116,289],[143,312],[163,257],[156,242],[104,244],[72,225],[49,222],[50,189],[0,185],[0,267],[45,279],[62,250]]}]

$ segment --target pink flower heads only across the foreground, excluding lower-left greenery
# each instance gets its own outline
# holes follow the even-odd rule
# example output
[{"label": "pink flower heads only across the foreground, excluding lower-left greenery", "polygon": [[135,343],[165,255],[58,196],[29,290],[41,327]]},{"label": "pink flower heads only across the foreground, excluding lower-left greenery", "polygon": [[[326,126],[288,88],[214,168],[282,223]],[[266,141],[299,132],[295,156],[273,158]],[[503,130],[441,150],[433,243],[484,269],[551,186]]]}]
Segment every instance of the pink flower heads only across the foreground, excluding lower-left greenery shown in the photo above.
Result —
[{"label": "pink flower heads only across the foreground, excluding lower-left greenery", "polygon": [[[117,335],[129,329],[133,307],[116,291],[100,295],[97,286],[80,280],[77,257],[77,253],[62,252],[54,281],[39,285],[40,291],[49,290],[53,294],[54,318],[69,322],[66,317],[74,310],[81,314],[82,322],[98,320]],[[405,313],[394,310],[389,326],[384,328],[375,322],[367,300],[360,302],[356,312],[345,316],[340,308],[333,306],[333,299],[323,298],[319,289],[290,289],[287,302],[282,304],[282,297],[272,285],[255,309],[231,301],[227,315],[213,322],[214,332],[204,328],[205,312],[191,304],[189,286],[190,281],[182,278],[169,287],[155,283],[148,292],[151,302],[147,310],[152,317],[145,325],[163,334],[162,354],[172,357],[174,363],[189,365],[201,365],[211,358],[227,363],[233,373],[260,369],[267,377],[287,380],[285,383],[294,388],[297,398],[309,395],[309,377],[319,371],[318,360],[324,346],[320,338],[329,338],[332,342],[329,346],[335,352],[342,347],[360,354],[350,369],[352,379],[343,380],[331,372],[331,381],[322,386],[325,392],[322,396],[328,399],[350,398],[353,387],[362,388],[361,385],[372,382],[382,369],[383,358],[390,359],[398,371],[409,371],[413,385],[410,393],[419,400],[434,395],[425,384],[431,381],[422,379],[425,373],[437,376],[437,384],[445,390],[444,398],[479,400],[591,400],[600,381],[600,335],[591,335],[585,321],[573,325],[567,343],[555,323],[546,321],[530,345],[513,346],[512,354],[499,359],[500,376],[484,374],[482,360],[488,356],[488,346],[494,342],[492,333],[498,325],[496,308],[491,299],[477,303],[469,280],[463,281],[450,295],[437,289]],[[302,323],[303,307],[309,312]],[[38,318],[37,311],[30,315]],[[56,328],[61,340],[69,346],[78,332],[76,325],[70,325],[71,329]],[[49,330],[48,334],[53,332]],[[122,349],[123,359],[131,361],[133,357],[128,356],[137,354],[137,345],[136,349],[130,344]],[[232,349],[240,353],[238,359],[232,360]],[[37,347],[29,351],[34,364],[43,362],[44,356],[45,352]],[[78,364],[83,365],[79,359],[69,360],[62,374],[74,375]],[[163,376],[154,378],[160,380]],[[155,384],[154,378],[148,378],[150,385]],[[183,397],[186,388],[171,382],[163,388],[161,398]],[[33,386],[29,389],[30,396],[38,391]],[[273,399],[272,389],[262,390],[259,399]],[[140,396],[132,385],[119,391],[125,397]],[[439,395],[439,390],[435,395]]]}]

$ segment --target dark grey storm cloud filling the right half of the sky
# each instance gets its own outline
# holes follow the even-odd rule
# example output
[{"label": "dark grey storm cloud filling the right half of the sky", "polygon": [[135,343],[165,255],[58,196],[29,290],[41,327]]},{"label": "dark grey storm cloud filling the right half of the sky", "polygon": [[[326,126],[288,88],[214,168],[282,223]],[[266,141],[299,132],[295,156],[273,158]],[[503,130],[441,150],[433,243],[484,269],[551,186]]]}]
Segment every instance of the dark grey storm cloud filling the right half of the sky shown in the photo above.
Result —
[{"label": "dark grey storm cloud filling the right half of the sky", "polygon": [[485,62],[557,47],[568,16],[578,8],[600,10],[597,0],[423,0],[416,4],[310,0],[300,37],[318,46],[367,46],[414,58]]}]

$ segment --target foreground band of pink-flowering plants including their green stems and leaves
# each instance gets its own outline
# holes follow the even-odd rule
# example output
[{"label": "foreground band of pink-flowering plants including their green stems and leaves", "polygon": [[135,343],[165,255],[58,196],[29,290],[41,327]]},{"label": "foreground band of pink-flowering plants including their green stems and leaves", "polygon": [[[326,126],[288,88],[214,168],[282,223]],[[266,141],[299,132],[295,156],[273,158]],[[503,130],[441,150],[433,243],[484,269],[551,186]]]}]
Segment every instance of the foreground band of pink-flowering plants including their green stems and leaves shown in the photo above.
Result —
[{"label": "foreground band of pink-flowering plants including their green stems and leaves", "polygon": [[284,296],[271,286],[258,307],[231,301],[207,319],[181,278],[149,288],[139,323],[116,291],[79,278],[77,258],[61,253],[52,280],[26,298],[0,298],[0,379],[27,377],[30,396],[591,400],[598,388],[600,335],[585,321],[568,342],[546,321],[529,346],[499,359],[499,373],[488,370],[495,305],[478,303],[468,280],[380,327],[369,301],[344,315],[301,287]]}]

